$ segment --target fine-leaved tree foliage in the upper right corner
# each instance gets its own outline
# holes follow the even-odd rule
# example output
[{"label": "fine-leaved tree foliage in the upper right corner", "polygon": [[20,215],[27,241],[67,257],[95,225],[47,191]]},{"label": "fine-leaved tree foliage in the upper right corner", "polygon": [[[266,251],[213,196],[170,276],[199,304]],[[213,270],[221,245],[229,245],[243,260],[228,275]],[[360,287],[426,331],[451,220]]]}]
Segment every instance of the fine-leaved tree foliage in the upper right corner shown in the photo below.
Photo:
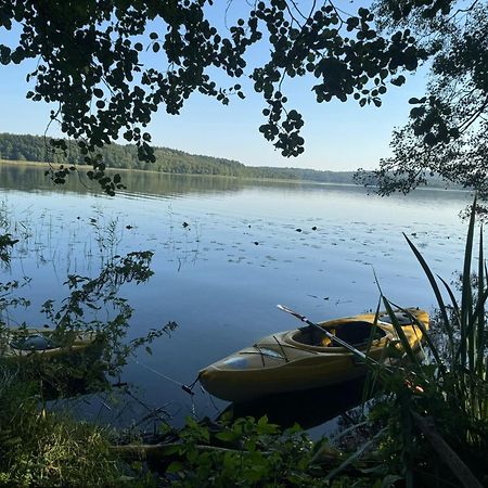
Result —
[{"label": "fine-leaved tree foliage in the upper right corner", "polygon": [[[407,193],[432,172],[488,195],[487,2],[378,0],[385,33],[411,28],[431,59],[427,92],[410,99],[408,124],[393,134],[393,157],[373,183]],[[368,174],[360,178],[371,182]]]}]

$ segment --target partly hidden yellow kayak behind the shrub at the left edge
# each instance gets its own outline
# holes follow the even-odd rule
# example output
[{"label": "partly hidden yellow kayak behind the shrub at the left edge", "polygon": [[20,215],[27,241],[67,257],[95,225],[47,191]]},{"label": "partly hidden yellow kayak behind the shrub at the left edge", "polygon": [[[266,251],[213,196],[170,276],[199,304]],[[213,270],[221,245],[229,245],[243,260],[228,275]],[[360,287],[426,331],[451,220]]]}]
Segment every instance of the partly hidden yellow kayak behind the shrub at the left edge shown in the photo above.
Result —
[{"label": "partly hidden yellow kayak behind the shrub at the left edge", "polygon": [[46,359],[59,357],[85,350],[95,338],[93,332],[5,328],[0,330],[0,359],[18,360],[33,355]]}]

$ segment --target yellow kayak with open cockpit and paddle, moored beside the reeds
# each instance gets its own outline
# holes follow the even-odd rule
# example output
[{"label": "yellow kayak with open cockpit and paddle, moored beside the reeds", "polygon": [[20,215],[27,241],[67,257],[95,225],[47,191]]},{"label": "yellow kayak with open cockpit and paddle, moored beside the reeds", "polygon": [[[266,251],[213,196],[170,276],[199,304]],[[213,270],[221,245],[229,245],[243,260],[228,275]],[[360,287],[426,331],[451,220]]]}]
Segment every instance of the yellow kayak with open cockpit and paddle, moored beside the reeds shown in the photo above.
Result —
[{"label": "yellow kayak with open cockpit and paddle, moored beside the reeds", "polygon": [[[406,310],[408,313],[396,312],[396,316],[411,348],[418,350],[423,334],[411,316],[428,329],[428,313],[418,308]],[[380,314],[376,325],[374,321],[374,313],[362,313],[319,322],[318,325],[369,358],[391,362],[395,359],[386,346],[395,344],[393,349],[401,354],[398,335],[386,313]],[[264,337],[203,369],[198,378],[216,397],[240,402],[338,384],[365,372],[364,362],[351,351],[324,336],[319,328],[305,326]]]}]

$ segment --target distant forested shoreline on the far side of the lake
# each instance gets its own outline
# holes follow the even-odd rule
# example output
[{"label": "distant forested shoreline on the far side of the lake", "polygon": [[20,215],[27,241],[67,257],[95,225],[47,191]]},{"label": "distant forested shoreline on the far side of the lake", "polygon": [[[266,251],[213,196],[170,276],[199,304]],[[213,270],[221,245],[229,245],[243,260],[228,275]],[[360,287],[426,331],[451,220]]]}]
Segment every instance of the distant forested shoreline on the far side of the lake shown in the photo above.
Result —
[{"label": "distant forested shoreline on the far side of the lake", "polygon": [[[49,153],[44,138],[0,133],[0,159],[12,162],[51,162],[65,165],[84,165],[75,143],[68,144],[68,155]],[[156,147],[156,163],[138,159],[132,144],[111,144],[102,150],[104,163],[110,168],[152,170],[178,175],[218,175],[236,178],[305,180],[324,183],[352,183],[355,171],[319,171],[305,168],[275,168],[244,166],[242,163],[219,157],[188,154],[168,147]]]}]

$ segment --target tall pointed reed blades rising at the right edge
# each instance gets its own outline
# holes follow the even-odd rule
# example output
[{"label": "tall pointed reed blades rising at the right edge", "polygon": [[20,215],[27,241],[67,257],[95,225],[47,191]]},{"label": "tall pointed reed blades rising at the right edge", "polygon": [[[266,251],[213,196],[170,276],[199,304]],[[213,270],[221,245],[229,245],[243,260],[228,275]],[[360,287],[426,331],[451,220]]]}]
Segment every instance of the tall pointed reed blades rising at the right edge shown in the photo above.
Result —
[{"label": "tall pointed reed blades rising at the right edge", "polygon": [[[435,358],[435,372],[446,403],[461,411],[467,420],[465,432],[459,432],[460,438],[474,445],[486,445],[488,434],[479,431],[479,422],[488,421],[487,389],[487,345],[486,314],[488,298],[488,282],[483,249],[483,228],[479,233],[477,254],[477,280],[472,280],[472,264],[474,259],[475,209],[473,204],[467,229],[466,247],[461,283],[461,301],[457,299],[449,284],[439,278],[449,301],[445,301],[436,278],[425,259],[406,236],[411,249],[425,271],[440,312],[440,322],[447,341],[447,355],[441,357],[439,348],[425,331],[427,347]],[[423,372],[425,368],[420,368]],[[486,426],[485,426],[486,427]]]}]

